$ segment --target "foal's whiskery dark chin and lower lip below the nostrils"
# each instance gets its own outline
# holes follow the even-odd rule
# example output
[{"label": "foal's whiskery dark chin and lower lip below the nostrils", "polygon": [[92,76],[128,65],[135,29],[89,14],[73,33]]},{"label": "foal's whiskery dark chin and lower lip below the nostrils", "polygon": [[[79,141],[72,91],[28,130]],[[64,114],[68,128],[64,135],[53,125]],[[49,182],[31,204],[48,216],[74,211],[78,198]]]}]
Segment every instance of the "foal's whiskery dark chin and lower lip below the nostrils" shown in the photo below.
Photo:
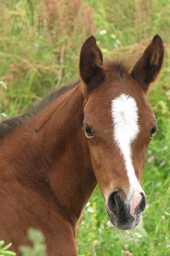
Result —
[{"label": "foal's whiskery dark chin and lower lip below the nostrils", "polygon": [[107,207],[107,213],[110,218],[110,222],[117,228],[122,230],[134,229],[140,223],[140,215],[136,217],[130,217],[129,221],[122,221],[120,218],[116,217],[110,209]]}]

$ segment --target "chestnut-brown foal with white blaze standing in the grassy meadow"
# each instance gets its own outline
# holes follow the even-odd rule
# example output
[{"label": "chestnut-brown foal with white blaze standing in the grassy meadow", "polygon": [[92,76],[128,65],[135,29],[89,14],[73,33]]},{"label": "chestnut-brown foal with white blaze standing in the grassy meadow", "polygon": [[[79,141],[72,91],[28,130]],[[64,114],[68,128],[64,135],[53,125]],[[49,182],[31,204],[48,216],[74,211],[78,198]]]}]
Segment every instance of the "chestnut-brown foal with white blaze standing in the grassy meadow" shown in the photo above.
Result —
[{"label": "chestnut-brown foal with white blaze standing in the grassy meadow", "polygon": [[29,244],[26,232],[34,227],[45,234],[48,256],[78,255],[76,223],[97,183],[113,225],[139,223],[142,171],[157,125],[146,94],[163,55],[156,35],[130,72],[103,64],[91,36],[81,49],[78,84],[0,124],[0,239],[12,250]]}]

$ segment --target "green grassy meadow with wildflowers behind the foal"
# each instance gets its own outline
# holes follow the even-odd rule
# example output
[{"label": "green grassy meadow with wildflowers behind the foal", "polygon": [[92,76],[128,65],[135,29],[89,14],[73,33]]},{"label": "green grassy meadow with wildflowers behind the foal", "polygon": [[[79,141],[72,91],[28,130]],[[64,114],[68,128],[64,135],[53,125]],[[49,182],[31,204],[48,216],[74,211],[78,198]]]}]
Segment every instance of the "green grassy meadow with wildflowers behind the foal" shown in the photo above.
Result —
[{"label": "green grassy meadow with wildflowers behind the foal", "polygon": [[81,45],[91,34],[104,57],[124,57],[131,64],[155,34],[161,36],[165,60],[147,96],[159,131],[143,172],[142,222],[132,231],[111,226],[97,187],[77,225],[76,241],[80,256],[170,255],[170,1],[4,0],[0,9],[1,119],[74,81]]}]

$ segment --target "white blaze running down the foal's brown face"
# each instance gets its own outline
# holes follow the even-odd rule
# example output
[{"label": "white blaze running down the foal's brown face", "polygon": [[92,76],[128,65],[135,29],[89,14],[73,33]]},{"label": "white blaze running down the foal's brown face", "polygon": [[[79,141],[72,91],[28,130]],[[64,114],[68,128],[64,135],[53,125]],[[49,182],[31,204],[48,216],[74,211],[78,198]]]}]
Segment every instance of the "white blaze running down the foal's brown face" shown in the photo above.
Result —
[{"label": "white blaze running down the foal's brown face", "polygon": [[136,189],[143,191],[135,175],[131,159],[131,143],[140,131],[136,101],[129,95],[121,94],[111,101],[111,114],[114,124],[113,136],[124,159],[130,183],[130,194]]}]

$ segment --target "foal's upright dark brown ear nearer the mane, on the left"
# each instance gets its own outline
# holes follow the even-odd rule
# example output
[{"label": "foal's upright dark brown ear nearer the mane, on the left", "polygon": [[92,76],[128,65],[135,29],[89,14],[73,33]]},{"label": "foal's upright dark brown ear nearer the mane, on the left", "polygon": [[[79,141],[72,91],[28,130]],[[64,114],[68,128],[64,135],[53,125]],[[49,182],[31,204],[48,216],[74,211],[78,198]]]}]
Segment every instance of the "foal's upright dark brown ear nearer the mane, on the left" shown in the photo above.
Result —
[{"label": "foal's upright dark brown ear nearer the mane, on the left", "polygon": [[83,91],[89,92],[100,85],[105,77],[103,69],[102,52],[96,44],[96,39],[91,36],[83,44],[80,53],[80,76],[83,83]]}]

